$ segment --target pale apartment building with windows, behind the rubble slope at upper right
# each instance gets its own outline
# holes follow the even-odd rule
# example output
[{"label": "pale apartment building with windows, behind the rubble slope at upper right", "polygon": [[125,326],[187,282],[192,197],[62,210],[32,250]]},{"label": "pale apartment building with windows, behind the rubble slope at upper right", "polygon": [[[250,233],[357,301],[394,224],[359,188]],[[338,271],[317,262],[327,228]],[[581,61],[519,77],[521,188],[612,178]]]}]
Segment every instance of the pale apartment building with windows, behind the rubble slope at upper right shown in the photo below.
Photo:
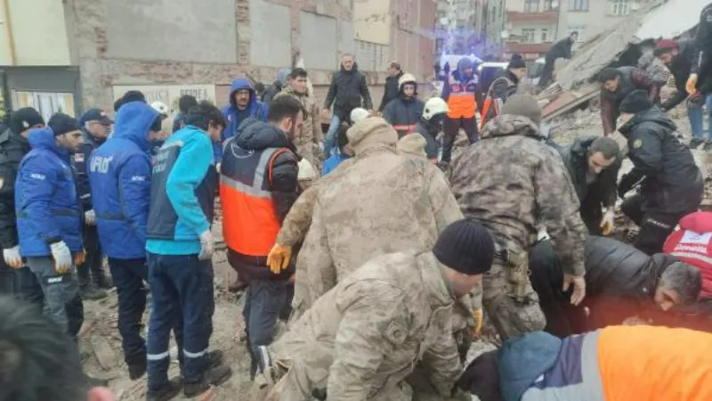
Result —
[{"label": "pale apartment building with windows, behind the rubble slope at upper right", "polygon": [[578,32],[578,41],[609,29],[648,0],[507,0],[506,57],[535,61],[558,40]]}]

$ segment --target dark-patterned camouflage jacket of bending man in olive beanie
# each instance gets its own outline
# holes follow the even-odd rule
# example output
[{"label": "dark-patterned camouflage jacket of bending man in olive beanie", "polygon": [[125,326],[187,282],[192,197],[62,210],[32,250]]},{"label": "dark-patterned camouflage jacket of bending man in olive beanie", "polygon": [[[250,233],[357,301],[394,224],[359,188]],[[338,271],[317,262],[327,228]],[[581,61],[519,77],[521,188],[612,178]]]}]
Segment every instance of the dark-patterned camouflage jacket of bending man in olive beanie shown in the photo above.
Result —
[{"label": "dark-patterned camouflage jacket of bending man in olive beanie", "polygon": [[488,228],[501,246],[526,252],[538,227],[554,241],[567,274],[584,274],[586,226],[562,158],[522,116],[492,119],[482,139],[450,165],[452,192],[466,217]]}]

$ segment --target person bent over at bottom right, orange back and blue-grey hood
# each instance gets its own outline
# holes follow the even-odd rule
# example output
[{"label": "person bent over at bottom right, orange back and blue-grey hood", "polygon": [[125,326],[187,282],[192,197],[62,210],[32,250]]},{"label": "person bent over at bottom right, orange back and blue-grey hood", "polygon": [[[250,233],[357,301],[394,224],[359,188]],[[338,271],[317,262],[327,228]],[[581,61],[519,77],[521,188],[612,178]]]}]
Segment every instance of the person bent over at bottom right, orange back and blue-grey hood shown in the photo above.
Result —
[{"label": "person bent over at bottom right, orange back and blue-grey hood", "polygon": [[537,331],[478,356],[457,384],[481,401],[701,401],[712,399],[710,354],[701,331],[612,326],[562,340]]}]

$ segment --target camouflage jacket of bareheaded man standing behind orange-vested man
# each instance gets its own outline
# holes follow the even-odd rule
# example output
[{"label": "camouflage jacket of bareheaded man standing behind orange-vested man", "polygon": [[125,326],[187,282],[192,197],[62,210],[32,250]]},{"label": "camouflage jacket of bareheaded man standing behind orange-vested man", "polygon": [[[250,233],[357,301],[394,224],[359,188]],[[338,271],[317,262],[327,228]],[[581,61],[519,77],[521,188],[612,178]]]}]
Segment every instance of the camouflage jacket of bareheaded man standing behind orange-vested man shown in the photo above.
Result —
[{"label": "camouflage jacket of bareheaded man standing behind orange-vested man", "polygon": [[321,159],[319,154],[321,150],[319,144],[324,140],[324,134],[321,132],[321,110],[319,109],[319,104],[312,94],[297,94],[288,85],[275,98],[285,94],[301,102],[304,110],[306,110],[302,130],[296,133],[295,139],[292,141],[295,144],[296,151],[304,159],[309,160],[312,166],[320,172]]}]

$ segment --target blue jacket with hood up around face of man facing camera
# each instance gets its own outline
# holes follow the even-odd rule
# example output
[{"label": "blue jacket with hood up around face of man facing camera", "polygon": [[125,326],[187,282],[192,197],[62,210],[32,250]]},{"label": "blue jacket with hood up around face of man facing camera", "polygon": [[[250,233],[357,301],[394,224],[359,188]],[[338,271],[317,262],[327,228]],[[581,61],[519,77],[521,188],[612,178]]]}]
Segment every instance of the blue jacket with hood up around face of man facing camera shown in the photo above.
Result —
[{"label": "blue jacket with hood up around face of man facing camera", "polygon": [[[250,102],[247,106],[247,110],[243,112],[238,110],[238,105],[235,104],[234,98],[235,93],[240,89],[247,89],[250,91]],[[237,78],[232,81],[232,86],[230,88],[230,103],[223,109],[223,117],[225,118],[225,129],[223,130],[223,135],[220,138],[220,143],[216,143],[214,145],[214,157],[216,163],[219,163],[220,160],[223,159],[223,143],[226,139],[238,135],[239,125],[244,119],[251,117],[253,119],[259,119],[260,121],[267,121],[267,106],[257,100],[255,88],[252,87],[247,78]]]}]

